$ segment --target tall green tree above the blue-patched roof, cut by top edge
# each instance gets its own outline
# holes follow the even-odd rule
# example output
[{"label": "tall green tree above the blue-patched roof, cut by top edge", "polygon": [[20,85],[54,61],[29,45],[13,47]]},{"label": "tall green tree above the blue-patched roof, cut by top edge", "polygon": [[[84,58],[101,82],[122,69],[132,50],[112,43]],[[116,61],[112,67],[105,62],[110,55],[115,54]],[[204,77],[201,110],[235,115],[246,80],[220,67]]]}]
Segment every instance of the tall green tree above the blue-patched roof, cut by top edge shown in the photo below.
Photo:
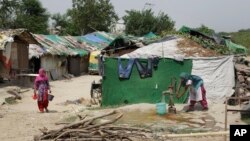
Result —
[{"label": "tall green tree above the blue-patched roof, cut by top edge", "polygon": [[111,24],[118,20],[110,0],[72,0],[72,3],[68,14],[79,34],[109,31]]}]

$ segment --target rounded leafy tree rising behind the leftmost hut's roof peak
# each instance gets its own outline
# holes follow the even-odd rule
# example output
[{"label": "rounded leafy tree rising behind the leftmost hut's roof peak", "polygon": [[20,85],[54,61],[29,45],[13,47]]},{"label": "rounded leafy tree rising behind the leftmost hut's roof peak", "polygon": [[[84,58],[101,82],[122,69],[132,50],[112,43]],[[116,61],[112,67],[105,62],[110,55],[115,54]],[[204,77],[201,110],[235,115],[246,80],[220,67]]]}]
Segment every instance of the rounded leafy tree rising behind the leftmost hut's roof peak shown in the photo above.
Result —
[{"label": "rounded leafy tree rising behind the leftmost hut's roof peak", "polygon": [[49,14],[39,0],[22,0],[16,18],[17,28],[26,28],[31,32],[48,32]]}]

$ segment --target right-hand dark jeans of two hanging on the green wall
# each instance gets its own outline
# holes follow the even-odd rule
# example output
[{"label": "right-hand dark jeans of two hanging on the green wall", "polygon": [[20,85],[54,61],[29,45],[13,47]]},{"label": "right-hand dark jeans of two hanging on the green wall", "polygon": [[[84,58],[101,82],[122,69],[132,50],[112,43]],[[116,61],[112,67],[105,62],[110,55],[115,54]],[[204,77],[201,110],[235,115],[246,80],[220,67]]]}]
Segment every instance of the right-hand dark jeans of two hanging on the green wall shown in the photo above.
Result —
[{"label": "right-hand dark jeans of two hanging on the green wall", "polygon": [[141,78],[152,77],[152,58],[148,59],[148,62],[145,66],[138,59],[135,60],[135,64]]}]

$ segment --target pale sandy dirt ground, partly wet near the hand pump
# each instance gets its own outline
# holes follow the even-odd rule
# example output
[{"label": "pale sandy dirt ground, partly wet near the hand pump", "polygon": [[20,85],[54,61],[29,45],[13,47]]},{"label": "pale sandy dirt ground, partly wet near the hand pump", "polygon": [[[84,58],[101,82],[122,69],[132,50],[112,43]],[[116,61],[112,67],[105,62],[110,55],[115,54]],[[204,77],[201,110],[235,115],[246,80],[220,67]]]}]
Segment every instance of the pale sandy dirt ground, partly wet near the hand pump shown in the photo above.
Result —
[{"label": "pale sandy dirt ground, partly wet near the hand pump", "polygon": [[[39,113],[37,103],[32,99],[31,88],[22,89],[22,100],[16,104],[4,104],[0,106],[0,139],[1,141],[32,141],[33,136],[40,134],[39,129],[57,129],[62,125],[55,125],[60,121],[74,121],[76,114],[98,115],[116,109],[124,116],[117,124],[144,127],[152,129],[157,135],[165,136],[169,133],[194,133],[224,130],[224,104],[209,105],[209,110],[204,112],[184,112],[186,104],[176,105],[177,114],[156,114],[154,104],[135,104],[113,108],[88,107],[90,99],[90,86],[92,81],[98,81],[98,76],[80,76],[71,80],[59,80],[50,82],[54,100],[49,104],[49,113]],[[9,89],[15,86],[0,84],[0,104],[4,102]],[[67,100],[74,101],[82,98],[83,104],[64,104]],[[197,109],[201,109],[197,105]],[[236,107],[232,107],[236,108]],[[244,124],[240,120],[239,113],[228,113],[229,124]],[[229,125],[228,125],[229,126]],[[214,140],[220,141],[223,137],[202,138],[177,138],[164,140]]]}]

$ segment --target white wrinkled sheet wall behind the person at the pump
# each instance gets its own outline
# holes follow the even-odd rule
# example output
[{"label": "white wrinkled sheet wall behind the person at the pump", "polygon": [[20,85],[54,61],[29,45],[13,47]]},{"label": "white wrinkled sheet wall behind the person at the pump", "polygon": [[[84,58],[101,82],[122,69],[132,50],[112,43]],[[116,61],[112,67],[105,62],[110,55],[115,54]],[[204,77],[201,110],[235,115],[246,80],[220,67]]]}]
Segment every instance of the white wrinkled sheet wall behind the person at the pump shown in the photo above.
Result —
[{"label": "white wrinkled sheet wall behind the person at the pump", "polygon": [[192,74],[204,80],[207,99],[210,102],[223,103],[225,97],[234,93],[233,56],[193,59]]}]

